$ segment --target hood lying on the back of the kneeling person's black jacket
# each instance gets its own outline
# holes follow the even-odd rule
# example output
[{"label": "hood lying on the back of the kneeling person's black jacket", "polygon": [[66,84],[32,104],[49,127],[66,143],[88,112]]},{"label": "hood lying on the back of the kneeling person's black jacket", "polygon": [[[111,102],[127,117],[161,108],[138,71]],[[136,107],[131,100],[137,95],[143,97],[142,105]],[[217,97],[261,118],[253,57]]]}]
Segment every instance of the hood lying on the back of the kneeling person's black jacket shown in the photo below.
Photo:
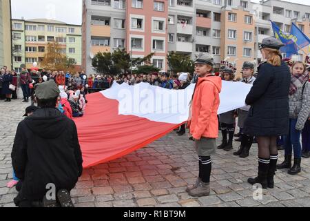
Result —
[{"label": "hood lying on the back of the kneeling person's black jacket", "polygon": [[45,139],[56,139],[68,126],[68,119],[56,108],[39,108],[24,119],[30,131]]}]

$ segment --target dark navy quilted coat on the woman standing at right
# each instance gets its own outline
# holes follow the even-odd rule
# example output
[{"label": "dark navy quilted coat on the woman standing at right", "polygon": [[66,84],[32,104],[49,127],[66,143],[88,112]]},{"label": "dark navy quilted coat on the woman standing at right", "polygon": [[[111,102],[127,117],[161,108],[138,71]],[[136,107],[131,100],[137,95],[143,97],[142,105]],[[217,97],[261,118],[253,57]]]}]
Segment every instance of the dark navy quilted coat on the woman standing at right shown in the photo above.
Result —
[{"label": "dark navy quilted coat on the woman standing at right", "polygon": [[262,64],[245,103],[251,105],[244,133],[254,136],[276,136],[289,133],[289,86],[291,73],[281,66]]}]

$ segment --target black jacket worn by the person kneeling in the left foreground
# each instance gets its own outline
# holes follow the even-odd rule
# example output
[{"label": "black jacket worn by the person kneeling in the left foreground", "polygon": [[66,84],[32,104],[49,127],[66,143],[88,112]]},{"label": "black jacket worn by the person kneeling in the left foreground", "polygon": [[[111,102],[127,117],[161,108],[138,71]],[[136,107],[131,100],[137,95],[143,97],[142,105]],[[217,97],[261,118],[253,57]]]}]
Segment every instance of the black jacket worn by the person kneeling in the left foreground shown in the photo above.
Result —
[{"label": "black jacket worn by the person kneeling in the left foreground", "polygon": [[56,108],[38,109],[19,123],[11,156],[28,200],[41,199],[50,183],[70,191],[83,171],[76,126]]}]

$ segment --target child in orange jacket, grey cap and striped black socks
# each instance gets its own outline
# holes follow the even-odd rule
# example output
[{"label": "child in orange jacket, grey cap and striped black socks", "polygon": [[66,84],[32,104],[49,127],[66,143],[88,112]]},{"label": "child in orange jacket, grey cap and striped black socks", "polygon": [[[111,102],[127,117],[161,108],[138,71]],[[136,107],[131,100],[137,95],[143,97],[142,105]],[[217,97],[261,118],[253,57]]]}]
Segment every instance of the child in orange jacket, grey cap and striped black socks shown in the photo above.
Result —
[{"label": "child in orange jacket, grey cap and striped black socks", "polygon": [[192,119],[189,119],[188,125],[199,156],[199,176],[196,184],[186,189],[194,197],[210,194],[211,155],[216,153],[222,79],[212,74],[213,66],[211,55],[202,54],[195,62],[195,72],[199,78],[192,99]]}]

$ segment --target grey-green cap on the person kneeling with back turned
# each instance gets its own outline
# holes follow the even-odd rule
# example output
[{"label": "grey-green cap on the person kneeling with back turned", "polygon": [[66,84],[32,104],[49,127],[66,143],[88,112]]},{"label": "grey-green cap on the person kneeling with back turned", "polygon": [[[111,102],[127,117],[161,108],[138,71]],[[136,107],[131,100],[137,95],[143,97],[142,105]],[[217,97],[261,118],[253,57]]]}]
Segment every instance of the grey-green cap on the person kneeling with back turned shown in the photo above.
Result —
[{"label": "grey-green cap on the person kneeling with back turned", "polygon": [[34,93],[39,99],[52,99],[59,96],[60,90],[55,81],[50,80],[37,84]]}]

